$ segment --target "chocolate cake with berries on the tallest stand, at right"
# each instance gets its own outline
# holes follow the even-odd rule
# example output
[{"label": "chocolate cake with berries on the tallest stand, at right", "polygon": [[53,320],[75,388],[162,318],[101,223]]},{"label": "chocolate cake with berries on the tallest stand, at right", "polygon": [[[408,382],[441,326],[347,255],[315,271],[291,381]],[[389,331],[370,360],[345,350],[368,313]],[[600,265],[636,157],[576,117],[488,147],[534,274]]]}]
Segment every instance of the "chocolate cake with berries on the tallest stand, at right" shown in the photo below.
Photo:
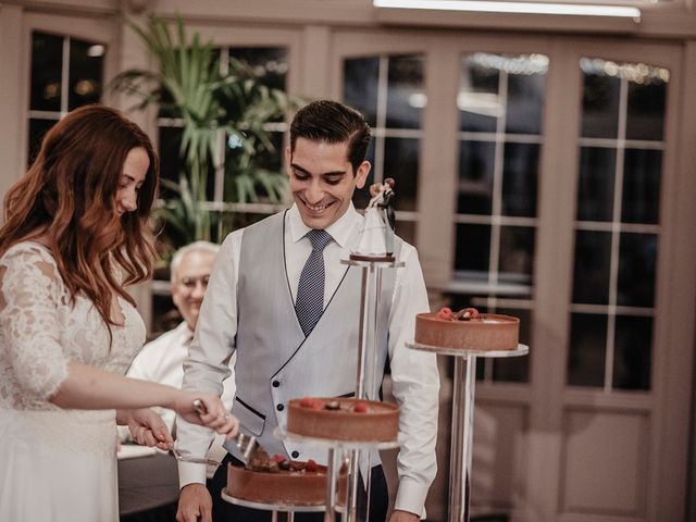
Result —
[{"label": "chocolate cake with berries on the tallest stand, at right", "polygon": [[520,320],[509,315],[478,313],[475,308],[415,316],[415,343],[434,348],[494,351],[514,350],[519,343]]}]

